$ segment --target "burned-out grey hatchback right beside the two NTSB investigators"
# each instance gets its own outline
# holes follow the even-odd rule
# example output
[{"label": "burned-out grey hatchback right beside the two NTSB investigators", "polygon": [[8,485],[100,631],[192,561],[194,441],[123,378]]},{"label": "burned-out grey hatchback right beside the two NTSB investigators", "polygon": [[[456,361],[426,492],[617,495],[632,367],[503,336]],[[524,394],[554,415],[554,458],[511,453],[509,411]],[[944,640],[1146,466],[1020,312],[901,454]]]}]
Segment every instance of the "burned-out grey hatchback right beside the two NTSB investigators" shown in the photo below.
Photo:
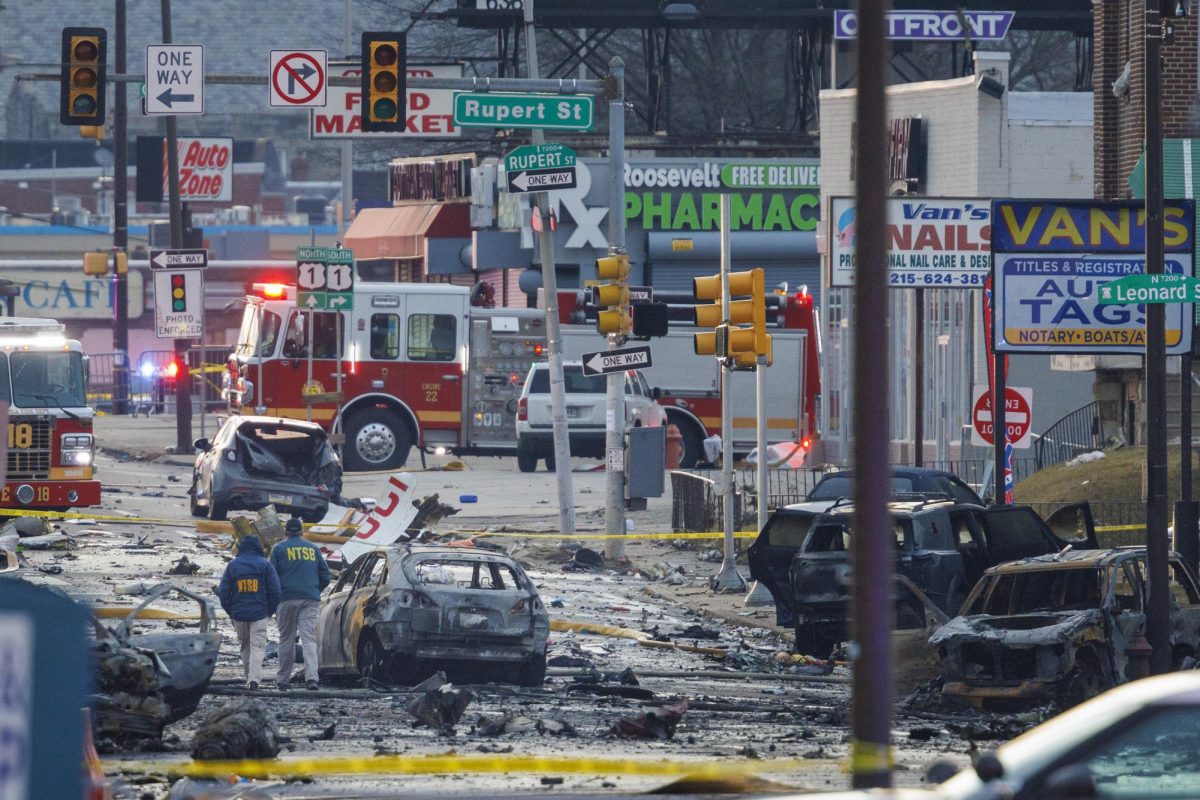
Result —
[{"label": "burned-out grey hatchback right beside the two NTSB investigators", "polygon": [[503,553],[400,545],[364,553],[322,597],[320,669],[412,685],[470,666],[526,686],[546,678],[550,614]]}]

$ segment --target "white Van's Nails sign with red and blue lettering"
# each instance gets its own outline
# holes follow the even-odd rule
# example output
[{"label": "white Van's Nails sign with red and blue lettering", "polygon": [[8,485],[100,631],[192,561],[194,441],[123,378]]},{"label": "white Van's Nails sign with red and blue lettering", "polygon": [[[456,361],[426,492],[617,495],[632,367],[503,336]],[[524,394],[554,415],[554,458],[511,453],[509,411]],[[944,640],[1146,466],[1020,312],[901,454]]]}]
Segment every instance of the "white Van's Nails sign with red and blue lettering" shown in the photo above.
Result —
[{"label": "white Van's Nails sign with red and blue lettering", "polygon": [[[829,285],[854,285],[854,198],[829,200]],[[888,285],[894,289],[982,288],[991,270],[988,200],[888,199]]]}]

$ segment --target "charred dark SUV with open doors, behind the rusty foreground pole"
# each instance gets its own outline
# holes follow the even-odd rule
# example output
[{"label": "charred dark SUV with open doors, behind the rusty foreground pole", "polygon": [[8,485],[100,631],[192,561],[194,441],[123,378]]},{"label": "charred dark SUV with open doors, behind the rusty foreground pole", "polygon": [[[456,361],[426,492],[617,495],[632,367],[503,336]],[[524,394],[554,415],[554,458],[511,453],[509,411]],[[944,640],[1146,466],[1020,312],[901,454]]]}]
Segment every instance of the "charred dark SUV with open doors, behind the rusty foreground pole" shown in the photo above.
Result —
[{"label": "charred dark SUV with open doors, behind the rusty foreground pole", "polygon": [[[984,509],[944,498],[895,498],[888,504],[896,548],[896,626],[924,627],[926,604],[954,615],[984,570],[1004,561],[1057,553],[1067,545],[1094,547],[1086,504],[1064,506],[1050,523],[1032,509]],[[1051,527],[1081,521],[1081,539],[1064,540]],[[846,637],[851,593],[850,548],[853,505],[839,503],[812,522],[792,561],[790,581],[796,612],[796,648],[827,656]]]}]

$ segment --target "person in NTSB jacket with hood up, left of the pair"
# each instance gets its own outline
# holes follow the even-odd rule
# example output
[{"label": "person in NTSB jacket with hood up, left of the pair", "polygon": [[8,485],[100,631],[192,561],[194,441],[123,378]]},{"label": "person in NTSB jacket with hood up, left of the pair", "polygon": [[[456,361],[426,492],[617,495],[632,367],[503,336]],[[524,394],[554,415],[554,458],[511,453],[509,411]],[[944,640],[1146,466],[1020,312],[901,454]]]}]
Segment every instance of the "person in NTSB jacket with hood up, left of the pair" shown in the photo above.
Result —
[{"label": "person in NTSB jacket with hood up, left of the pair", "polygon": [[266,620],[280,604],[280,576],[263,555],[258,536],[242,536],[238,542],[238,557],[226,566],[217,596],[238,632],[246,684],[258,688],[266,655]]}]

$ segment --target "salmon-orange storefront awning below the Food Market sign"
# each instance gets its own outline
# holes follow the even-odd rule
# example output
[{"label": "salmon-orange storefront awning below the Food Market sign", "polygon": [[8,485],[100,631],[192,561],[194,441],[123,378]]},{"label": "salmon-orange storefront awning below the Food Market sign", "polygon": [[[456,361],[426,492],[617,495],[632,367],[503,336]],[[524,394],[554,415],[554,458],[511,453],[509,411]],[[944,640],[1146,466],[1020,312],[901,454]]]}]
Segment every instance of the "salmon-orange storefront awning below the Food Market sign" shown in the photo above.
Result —
[{"label": "salmon-orange storefront awning below the Food Market sign", "polygon": [[424,258],[426,236],[470,237],[464,203],[419,203],[390,209],[364,209],[346,231],[354,258]]}]

